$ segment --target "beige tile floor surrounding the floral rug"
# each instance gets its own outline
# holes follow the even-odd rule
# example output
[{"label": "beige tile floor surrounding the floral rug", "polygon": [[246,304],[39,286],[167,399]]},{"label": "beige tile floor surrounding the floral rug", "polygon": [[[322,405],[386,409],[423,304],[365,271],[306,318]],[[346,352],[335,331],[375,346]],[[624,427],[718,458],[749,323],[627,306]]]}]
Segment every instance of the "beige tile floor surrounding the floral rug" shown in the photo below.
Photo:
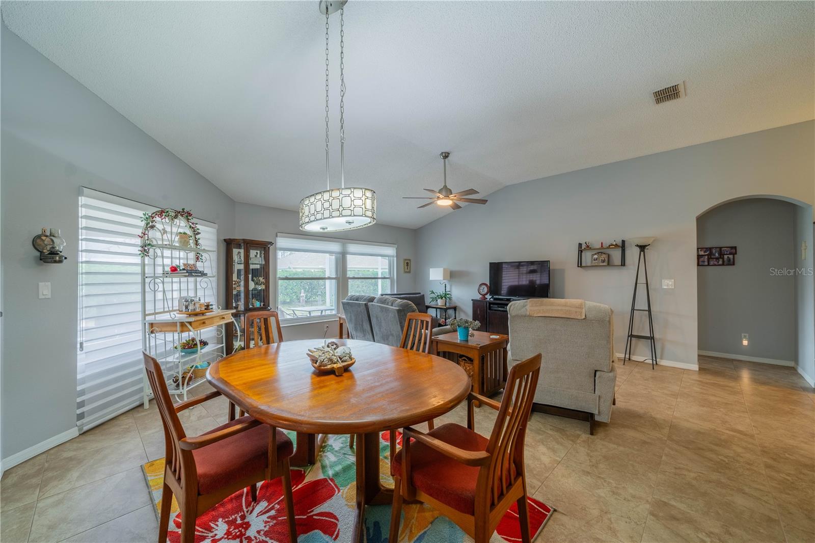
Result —
[{"label": "beige tile floor surrounding the floral rug", "polygon": [[[538,541],[815,541],[815,391],[791,368],[699,366],[618,363],[612,422],[593,436],[533,415],[529,489],[559,511]],[[494,417],[478,410],[477,429]],[[222,398],[183,414],[191,435],[225,420]],[[156,541],[140,466],[163,447],[156,409],[134,408],[7,470],[0,541]]]}]

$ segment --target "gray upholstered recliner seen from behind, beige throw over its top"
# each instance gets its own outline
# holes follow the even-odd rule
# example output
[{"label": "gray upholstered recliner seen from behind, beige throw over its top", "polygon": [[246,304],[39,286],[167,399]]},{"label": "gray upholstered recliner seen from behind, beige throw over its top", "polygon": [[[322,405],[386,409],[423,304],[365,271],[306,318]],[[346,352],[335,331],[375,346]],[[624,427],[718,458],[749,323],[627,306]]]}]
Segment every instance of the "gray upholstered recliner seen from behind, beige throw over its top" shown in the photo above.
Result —
[{"label": "gray upholstered recliner seen from behind, beige throw over its top", "polygon": [[[540,352],[535,410],[589,423],[609,422],[617,372],[613,313],[585,302],[584,319],[529,316],[527,301],[509,304],[509,364]],[[575,413],[578,416],[575,416]],[[582,416],[581,416],[582,415]]]}]

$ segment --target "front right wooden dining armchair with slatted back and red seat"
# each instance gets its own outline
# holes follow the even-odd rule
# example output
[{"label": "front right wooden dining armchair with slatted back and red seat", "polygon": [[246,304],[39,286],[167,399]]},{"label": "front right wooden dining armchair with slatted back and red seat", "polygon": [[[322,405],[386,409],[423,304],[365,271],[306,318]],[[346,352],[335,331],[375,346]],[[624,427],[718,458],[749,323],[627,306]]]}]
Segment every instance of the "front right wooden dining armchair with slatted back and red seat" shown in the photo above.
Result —
[{"label": "front right wooden dining armchair with slatted back and red seat", "polygon": [[[427,434],[404,429],[393,466],[390,543],[399,539],[403,499],[433,506],[475,543],[490,541],[504,513],[517,503],[521,541],[531,541],[523,447],[539,375],[540,354],[509,370],[500,404],[470,392],[466,428],[448,423]],[[474,401],[498,411],[489,439],[475,432]]]}]

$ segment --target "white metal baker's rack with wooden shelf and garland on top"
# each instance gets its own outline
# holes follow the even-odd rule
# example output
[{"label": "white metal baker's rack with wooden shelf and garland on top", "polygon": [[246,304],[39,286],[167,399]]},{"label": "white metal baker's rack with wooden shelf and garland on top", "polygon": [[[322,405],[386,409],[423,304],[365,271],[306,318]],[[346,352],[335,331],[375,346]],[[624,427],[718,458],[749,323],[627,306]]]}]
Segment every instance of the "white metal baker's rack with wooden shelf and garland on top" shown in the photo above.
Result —
[{"label": "white metal baker's rack with wooden shelf and garland on top", "polygon": [[[239,333],[240,328],[232,316],[233,310],[222,310],[215,303],[217,293],[212,279],[215,278],[216,271],[209,254],[215,253],[216,249],[196,247],[195,233],[186,219],[175,219],[172,222],[156,219],[156,222],[156,228],[150,231],[152,236],[149,251],[143,256],[141,266],[142,344],[144,350],[161,364],[170,394],[180,395],[183,400],[187,400],[187,391],[206,381],[205,377],[193,377],[192,366],[203,362],[211,364],[226,356],[228,353],[224,326],[228,322],[234,322]],[[172,243],[178,237],[178,232],[191,232],[191,246]],[[199,270],[207,275],[170,273],[171,265],[183,269],[183,263],[196,263]],[[203,316],[182,315],[178,313],[178,298],[182,296],[211,301],[214,312]],[[184,354],[175,346],[188,338],[196,338],[198,349]],[[202,338],[209,342],[204,348],[200,347]],[[152,391],[147,373],[143,375],[143,382],[143,403],[144,408],[148,408]]]}]

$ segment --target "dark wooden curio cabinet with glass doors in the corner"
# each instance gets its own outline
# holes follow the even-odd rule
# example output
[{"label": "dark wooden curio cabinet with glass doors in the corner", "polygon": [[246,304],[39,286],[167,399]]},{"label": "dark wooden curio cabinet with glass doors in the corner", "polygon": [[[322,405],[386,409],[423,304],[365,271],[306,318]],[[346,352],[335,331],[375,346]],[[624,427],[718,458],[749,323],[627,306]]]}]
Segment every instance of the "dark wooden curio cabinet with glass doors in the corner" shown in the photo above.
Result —
[{"label": "dark wooden curio cabinet with glass doors in the corner", "polygon": [[[227,289],[226,309],[235,310],[235,320],[240,327],[240,343],[244,342],[246,314],[251,311],[271,309],[271,241],[226,239]],[[235,345],[239,342],[239,330],[235,324],[227,326],[227,338]]]}]

